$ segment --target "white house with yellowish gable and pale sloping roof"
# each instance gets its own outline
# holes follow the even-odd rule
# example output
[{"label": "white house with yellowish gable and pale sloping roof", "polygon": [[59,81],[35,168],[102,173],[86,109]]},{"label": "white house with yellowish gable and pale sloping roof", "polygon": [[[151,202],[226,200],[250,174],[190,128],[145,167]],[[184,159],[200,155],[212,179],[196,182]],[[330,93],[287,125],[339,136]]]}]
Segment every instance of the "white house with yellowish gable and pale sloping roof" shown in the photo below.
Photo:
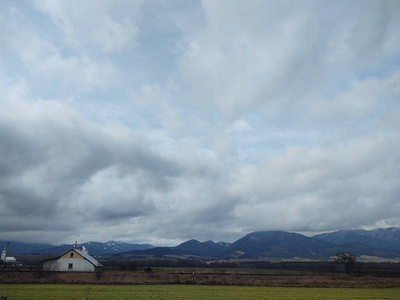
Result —
[{"label": "white house with yellowish gable and pale sloping roof", "polygon": [[87,252],[75,248],[43,261],[43,270],[46,271],[94,272],[101,267],[102,264]]}]

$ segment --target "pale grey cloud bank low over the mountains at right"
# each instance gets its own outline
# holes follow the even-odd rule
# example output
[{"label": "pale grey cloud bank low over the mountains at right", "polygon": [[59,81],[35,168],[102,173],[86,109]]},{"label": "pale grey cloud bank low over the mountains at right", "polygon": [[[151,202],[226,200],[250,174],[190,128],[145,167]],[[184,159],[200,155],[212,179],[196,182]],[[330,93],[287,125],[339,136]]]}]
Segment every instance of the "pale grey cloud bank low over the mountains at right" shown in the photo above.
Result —
[{"label": "pale grey cloud bank low over the mountains at right", "polygon": [[348,145],[300,147],[248,169],[238,193],[249,201],[238,206],[238,218],[250,228],[309,231],[395,218],[399,157],[393,143],[400,140],[366,136]]}]

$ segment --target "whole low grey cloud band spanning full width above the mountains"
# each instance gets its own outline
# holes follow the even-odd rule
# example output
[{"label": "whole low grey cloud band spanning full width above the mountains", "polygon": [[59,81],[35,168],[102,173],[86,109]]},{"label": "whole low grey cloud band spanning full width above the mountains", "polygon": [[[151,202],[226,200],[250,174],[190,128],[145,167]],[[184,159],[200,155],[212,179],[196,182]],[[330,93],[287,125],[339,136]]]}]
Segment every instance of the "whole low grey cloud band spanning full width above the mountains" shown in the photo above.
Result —
[{"label": "whole low grey cloud band spanning full width above the mountains", "polygon": [[[231,237],[263,228],[318,231],[370,226],[398,213],[399,157],[392,149],[400,141],[380,129],[346,143],[289,147],[237,172],[225,162],[199,160],[201,151],[180,149],[166,159],[134,137],[105,133],[68,114],[50,122],[51,114],[40,111],[33,118],[40,122],[19,115],[0,130],[3,157],[14,155],[19,164],[10,164],[0,180],[3,217],[24,220],[20,227],[10,223],[13,230],[49,230],[66,220],[125,228],[140,218],[142,232],[160,237],[222,239],[216,228]],[[36,132],[37,139],[25,138]]]}]

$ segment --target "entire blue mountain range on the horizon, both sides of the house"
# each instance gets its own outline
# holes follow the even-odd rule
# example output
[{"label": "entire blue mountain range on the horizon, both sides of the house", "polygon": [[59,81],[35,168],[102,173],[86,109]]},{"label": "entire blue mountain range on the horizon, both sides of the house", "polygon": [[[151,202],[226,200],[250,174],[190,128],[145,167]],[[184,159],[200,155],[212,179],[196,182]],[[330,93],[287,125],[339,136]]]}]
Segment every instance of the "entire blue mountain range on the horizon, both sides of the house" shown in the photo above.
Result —
[{"label": "entire blue mountain range on the horizon, both sides of the house", "polygon": [[[0,241],[0,245],[5,242]],[[367,255],[383,258],[400,258],[400,228],[374,230],[340,230],[307,237],[285,231],[252,232],[234,243],[189,240],[175,247],[154,247],[149,244],[129,244],[109,241],[80,244],[90,254],[130,254],[149,256],[197,256],[208,258],[307,258],[327,259],[340,252],[356,256]],[[10,254],[59,255],[73,245],[53,246],[11,242]]]}]

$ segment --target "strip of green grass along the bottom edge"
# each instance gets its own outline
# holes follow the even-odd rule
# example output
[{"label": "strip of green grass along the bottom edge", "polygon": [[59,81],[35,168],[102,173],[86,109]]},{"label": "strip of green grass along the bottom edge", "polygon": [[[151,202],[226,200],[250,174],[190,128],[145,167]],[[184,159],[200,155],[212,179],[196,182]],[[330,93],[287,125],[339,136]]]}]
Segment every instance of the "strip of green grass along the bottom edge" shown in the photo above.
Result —
[{"label": "strip of green grass along the bottom edge", "polygon": [[287,288],[196,285],[2,284],[11,299],[400,299],[400,288]]}]

